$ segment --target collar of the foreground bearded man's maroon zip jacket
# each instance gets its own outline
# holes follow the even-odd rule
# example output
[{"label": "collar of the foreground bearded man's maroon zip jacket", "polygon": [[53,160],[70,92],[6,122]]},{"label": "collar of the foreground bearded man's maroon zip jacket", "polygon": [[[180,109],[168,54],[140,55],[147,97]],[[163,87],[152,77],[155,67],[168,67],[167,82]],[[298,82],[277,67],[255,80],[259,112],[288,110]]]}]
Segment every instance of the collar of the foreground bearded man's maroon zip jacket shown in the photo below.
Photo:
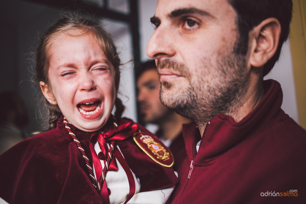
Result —
[{"label": "collar of the foreground bearded man's maroon zip jacket", "polygon": [[273,125],[271,124],[272,119],[279,113],[283,113],[281,109],[282,89],[280,84],[274,80],[264,81],[263,86],[265,96],[240,122],[237,123],[233,118],[222,113],[210,121],[202,137],[198,153],[194,149],[194,141],[199,141],[196,138],[200,135],[196,124],[183,125],[182,132],[189,161],[194,160],[195,165],[209,162],[245,139],[247,135],[258,134]]}]

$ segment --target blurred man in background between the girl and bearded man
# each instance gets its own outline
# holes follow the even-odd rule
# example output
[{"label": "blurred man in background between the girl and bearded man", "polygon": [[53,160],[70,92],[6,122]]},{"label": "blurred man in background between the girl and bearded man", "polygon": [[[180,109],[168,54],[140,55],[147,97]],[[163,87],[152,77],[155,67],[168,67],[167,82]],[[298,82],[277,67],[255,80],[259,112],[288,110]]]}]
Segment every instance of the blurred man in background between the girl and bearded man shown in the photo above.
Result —
[{"label": "blurred man in background between the girl and bearded man", "polygon": [[159,101],[159,76],[155,61],[147,61],[141,65],[137,75],[139,111],[145,124],[156,124],[159,130],[155,133],[162,142],[170,147],[174,156],[174,170],[186,157],[185,143],[182,135],[182,124],[191,121],[167,109]]}]

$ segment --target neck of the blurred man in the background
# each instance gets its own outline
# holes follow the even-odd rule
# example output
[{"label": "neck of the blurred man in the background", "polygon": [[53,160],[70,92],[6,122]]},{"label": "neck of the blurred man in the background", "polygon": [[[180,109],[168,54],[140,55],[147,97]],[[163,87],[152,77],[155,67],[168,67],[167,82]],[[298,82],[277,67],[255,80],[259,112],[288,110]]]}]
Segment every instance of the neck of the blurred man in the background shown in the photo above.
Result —
[{"label": "neck of the blurred man in the background", "polygon": [[187,118],[181,117],[176,113],[168,115],[168,117],[159,124],[164,140],[173,140],[182,131],[182,124],[190,123]]}]

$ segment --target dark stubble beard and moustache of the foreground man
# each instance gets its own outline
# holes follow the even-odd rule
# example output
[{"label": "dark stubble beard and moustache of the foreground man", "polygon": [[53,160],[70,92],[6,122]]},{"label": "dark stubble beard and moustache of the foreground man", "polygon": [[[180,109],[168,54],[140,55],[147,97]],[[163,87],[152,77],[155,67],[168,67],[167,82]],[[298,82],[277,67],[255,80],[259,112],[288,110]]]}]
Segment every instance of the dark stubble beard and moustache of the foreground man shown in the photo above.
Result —
[{"label": "dark stubble beard and moustache of the foreground man", "polygon": [[[218,113],[235,114],[243,103],[245,87],[248,86],[248,74],[244,71],[246,67],[244,56],[234,51],[219,53],[215,65],[208,58],[203,58],[201,64],[203,66],[197,68],[199,73],[193,73],[192,78],[192,74],[183,63],[170,59],[158,62],[158,68],[170,68],[181,73],[188,81],[188,86],[185,87],[162,82],[160,89],[162,104],[197,124],[206,124]],[[211,74],[209,69],[213,67],[217,70],[211,76],[215,81],[204,81],[204,77],[201,76]]]}]

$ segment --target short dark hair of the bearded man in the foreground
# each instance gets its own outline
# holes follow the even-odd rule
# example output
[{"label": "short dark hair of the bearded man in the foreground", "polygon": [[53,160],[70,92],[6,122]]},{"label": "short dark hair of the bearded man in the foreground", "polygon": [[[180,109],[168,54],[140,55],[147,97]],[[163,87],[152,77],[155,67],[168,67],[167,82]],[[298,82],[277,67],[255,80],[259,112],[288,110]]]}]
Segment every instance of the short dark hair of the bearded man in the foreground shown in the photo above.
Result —
[{"label": "short dark hair of the bearded man in the foreground", "polygon": [[245,55],[248,51],[248,34],[263,20],[274,17],[281,24],[281,35],[274,56],[264,65],[263,76],[267,75],[278,61],[283,43],[289,35],[292,17],[292,0],[228,0],[238,15],[240,35],[236,53]]}]

